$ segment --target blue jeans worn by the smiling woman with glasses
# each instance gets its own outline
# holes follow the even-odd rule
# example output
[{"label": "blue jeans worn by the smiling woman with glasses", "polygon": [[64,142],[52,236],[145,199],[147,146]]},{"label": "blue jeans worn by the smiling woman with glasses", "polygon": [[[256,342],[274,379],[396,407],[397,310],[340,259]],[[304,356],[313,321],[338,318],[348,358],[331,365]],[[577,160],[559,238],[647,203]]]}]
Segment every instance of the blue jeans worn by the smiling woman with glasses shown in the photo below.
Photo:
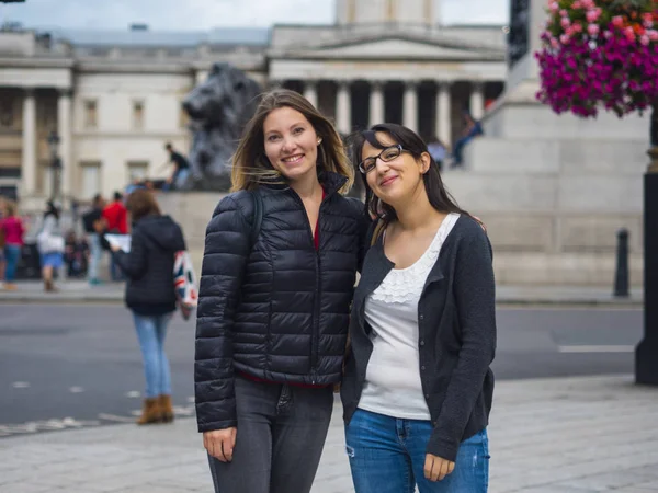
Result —
[{"label": "blue jeans worn by the smiling woman with glasses", "polygon": [[486,493],[489,440],[486,428],[460,445],[454,471],[443,481],[424,477],[429,421],[398,420],[358,409],[345,427],[356,493]]}]

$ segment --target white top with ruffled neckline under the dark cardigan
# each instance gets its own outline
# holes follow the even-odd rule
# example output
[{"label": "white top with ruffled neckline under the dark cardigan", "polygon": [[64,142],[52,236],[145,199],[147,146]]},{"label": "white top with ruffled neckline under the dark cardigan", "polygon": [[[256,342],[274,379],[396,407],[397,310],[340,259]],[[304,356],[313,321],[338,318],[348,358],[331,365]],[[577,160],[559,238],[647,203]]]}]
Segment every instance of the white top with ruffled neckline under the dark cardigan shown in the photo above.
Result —
[{"label": "white top with ruffled neckline under the dark cardigan", "polygon": [[418,353],[418,301],[441,246],[458,214],[450,214],[430,246],[407,268],[394,268],[365,301],[365,320],[373,331],[359,408],[406,420],[430,420],[422,394]]}]

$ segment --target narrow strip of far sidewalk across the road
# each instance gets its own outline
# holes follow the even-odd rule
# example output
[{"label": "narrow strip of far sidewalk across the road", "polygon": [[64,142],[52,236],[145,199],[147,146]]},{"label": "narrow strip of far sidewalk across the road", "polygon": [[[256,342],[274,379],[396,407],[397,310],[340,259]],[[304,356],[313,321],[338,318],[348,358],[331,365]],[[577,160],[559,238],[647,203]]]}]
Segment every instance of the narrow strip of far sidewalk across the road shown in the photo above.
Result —
[{"label": "narrow strip of far sidewalk across the road", "polygon": [[[68,280],[58,285],[58,293],[44,293],[37,280],[19,283],[19,289],[0,289],[0,302],[123,302],[123,283],[105,283],[89,286],[84,280]],[[612,288],[578,286],[498,286],[499,305],[585,305],[640,307],[644,293],[640,288],[631,290],[629,298],[614,298]]]}]

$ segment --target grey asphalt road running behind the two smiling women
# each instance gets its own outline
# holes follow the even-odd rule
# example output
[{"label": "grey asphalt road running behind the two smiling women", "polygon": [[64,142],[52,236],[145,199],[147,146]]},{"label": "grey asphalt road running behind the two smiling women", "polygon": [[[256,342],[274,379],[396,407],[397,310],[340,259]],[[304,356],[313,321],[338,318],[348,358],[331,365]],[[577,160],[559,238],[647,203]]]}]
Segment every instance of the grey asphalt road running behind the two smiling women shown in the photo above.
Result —
[{"label": "grey asphalt road running behind the two smiling women", "polygon": [[[0,305],[0,436],[132,422],[144,387],[129,311],[107,305]],[[498,307],[498,380],[633,371],[633,308]],[[167,336],[173,401],[193,415],[194,321]]]}]

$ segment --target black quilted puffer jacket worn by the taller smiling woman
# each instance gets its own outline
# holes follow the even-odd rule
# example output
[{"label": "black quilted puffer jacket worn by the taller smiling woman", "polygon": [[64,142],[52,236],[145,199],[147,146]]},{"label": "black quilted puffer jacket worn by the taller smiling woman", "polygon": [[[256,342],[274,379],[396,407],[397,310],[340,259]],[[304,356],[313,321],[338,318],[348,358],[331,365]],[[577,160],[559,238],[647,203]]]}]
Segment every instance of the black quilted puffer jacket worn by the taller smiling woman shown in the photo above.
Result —
[{"label": "black quilted puffer jacket worn by the taller smiling woman", "polygon": [[355,274],[363,257],[363,204],[320,177],[319,251],[302,199],[261,187],[263,219],[251,248],[253,198],[224,198],[206,230],[196,321],[198,431],[236,426],[235,371],[276,382],[340,381]]}]

